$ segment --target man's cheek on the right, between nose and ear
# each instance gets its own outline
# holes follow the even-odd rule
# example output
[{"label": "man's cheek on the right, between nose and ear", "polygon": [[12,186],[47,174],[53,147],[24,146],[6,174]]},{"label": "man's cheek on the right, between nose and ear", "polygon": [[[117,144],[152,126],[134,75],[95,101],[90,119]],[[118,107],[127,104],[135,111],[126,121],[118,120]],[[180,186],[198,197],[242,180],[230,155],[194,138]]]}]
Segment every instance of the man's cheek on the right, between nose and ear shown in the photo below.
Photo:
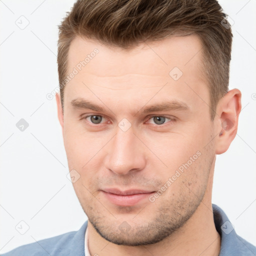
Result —
[{"label": "man's cheek on the right, between nose and ear", "polygon": [[210,130],[205,125],[194,123],[180,133],[159,133],[157,138],[149,134],[144,138],[157,156],[152,155],[149,161],[158,170],[158,178],[165,187],[172,187],[167,193],[181,192],[180,189],[189,192],[187,187],[193,191],[206,182],[210,168],[207,159],[213,157],[214,150],[209,143]]}]

